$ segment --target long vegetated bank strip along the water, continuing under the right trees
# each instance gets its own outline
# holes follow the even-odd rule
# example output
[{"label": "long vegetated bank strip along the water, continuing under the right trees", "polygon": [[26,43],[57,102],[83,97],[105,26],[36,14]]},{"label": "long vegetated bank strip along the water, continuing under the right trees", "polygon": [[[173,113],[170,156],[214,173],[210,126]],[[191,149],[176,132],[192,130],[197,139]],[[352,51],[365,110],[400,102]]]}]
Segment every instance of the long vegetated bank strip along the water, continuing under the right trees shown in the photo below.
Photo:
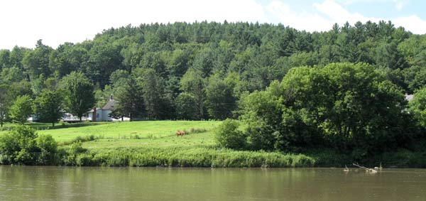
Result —
[{"label": "long vegetated bank strip along the water, continuing under the right trees", "polygon": [[332,151],[278,153],[234,151],[215,147],[65,148],[60,165],[203,167],[203,168],[342,168],[356,162],[369,167],[426,168],[426,152],[400,150],[354,160]]}]

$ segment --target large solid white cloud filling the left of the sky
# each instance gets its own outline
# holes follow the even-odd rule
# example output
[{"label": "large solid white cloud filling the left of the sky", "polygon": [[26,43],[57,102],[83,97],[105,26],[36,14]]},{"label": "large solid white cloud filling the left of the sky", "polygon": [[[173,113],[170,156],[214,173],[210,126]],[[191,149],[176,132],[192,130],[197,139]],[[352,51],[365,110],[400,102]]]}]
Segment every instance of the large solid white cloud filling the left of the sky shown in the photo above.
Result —
[{"label": "large solid white cloud filling the left of the sky", "polygon": [[14,45],[32,48],[40,38],[56,48],[60,43],[81,42],[104,29],[129,23],[268,22],[262,6],[254,0],[14,0],[0,2],[0,18],[0,49]]}]

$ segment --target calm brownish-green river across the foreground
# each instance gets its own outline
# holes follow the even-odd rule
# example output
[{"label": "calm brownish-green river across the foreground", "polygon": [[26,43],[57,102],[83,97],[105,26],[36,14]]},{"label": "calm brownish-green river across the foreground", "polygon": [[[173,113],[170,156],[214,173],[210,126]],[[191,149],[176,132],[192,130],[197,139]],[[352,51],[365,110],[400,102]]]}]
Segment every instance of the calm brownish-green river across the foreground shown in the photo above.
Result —
[{"label": "calm brownish-green river across the foreground", "polygon": [[0,200],[426,200],[426,170],[0,165]]}]

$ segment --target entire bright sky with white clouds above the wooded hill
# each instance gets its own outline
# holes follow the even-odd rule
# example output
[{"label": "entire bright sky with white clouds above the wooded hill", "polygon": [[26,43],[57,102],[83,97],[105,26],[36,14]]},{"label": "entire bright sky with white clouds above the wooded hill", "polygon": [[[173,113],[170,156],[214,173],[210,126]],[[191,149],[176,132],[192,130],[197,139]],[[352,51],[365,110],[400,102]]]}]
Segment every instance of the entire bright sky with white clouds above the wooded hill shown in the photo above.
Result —
[{"label": "entire bright sky with white clouds above the wooded hill", "polygon": [[13,0],[0,1],[0,49],[35,48],[38,39],[57,48],[91,40],[111,27],[175,21],[282,23],[328,31],[334,23],[391,20],[426,33],[422,0]]}]

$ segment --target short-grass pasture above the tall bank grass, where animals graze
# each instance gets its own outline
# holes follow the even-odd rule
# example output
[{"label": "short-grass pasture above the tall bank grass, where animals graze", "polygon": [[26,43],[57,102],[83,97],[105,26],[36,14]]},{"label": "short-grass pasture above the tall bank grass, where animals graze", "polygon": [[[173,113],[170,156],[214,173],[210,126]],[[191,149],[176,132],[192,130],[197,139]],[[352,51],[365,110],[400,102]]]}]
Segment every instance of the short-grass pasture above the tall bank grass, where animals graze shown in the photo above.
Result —
[{"label": "short-grass pasture above the tall bank grass, where animals graze", "polygon": [[[78,136],[95,136],[83,143],[84,148],[214,146],[214,129],[222,121],[132,121],[96,126],[49,129],[38,134],[50,134],[58,142],[72,141]],[[193,131],[176,136],[176,131]]]}]

